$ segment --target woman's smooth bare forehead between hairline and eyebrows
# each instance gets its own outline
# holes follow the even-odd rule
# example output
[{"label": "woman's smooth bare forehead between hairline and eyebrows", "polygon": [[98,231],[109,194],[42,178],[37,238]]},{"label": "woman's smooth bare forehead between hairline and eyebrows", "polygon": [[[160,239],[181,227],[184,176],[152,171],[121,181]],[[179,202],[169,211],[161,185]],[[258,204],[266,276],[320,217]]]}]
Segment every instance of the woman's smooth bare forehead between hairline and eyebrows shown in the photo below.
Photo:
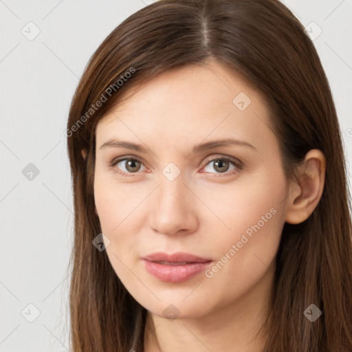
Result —
[{"label": "woman's smooth bare forehead between hairline and eyebrows", "polygon": [[173,69],[126,91],[98,122],[96,138],[97,146],[114,135],[135,142],[166,135],[164,142],[179,144],[224,133],[230,137],[233,131],[255,139],[263,137],[269,125],[261,95],[222,65],[211,63]]}]

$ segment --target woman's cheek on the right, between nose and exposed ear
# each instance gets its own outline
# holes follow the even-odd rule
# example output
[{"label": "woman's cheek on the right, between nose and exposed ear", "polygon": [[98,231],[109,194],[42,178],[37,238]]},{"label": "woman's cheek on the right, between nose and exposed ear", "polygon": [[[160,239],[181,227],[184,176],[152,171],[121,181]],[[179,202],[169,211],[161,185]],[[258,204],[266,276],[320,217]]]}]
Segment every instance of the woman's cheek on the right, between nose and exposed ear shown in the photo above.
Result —
[{"label": "woman's cheek on the right, between nose and exposed ear", "polygon": [[219,200],[212,201],[210,208],[221,222],[218,221],[217,235],[210,236],[208,245],[218,265],[210,267],[207,277],[221,280],[229,275],[240,282],[252,278],[255,281],[267,270],[278,250],[285,223],[285,192],[283,175],[273,179],[268,173],[256,177],[255,182],[234,184],[217,193]]}]

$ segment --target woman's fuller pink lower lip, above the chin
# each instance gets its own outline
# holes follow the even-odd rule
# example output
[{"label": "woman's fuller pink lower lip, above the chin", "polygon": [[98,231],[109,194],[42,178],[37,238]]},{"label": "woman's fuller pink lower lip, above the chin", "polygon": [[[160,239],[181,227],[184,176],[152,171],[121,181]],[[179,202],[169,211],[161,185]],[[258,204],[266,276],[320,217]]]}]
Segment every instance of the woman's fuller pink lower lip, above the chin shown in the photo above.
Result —
[{"label": "woman's fuller pink lower lip, above the chin", "polygon": [[166,265],[144,260],[147,272],[158,278],[160,281],[169,283],[181,283],[193,276],[203,272],[210,265],[211,261],[201,263],[188,263],[184,265]]}]

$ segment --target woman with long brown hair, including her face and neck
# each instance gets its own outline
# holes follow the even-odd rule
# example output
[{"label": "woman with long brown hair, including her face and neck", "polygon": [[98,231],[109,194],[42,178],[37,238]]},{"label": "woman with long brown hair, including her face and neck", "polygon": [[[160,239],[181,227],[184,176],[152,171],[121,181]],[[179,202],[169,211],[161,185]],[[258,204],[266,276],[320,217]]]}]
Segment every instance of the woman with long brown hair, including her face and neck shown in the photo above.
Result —
[{"label": "woman with long brown hair, including her face and neck", "polygon": [[164,0],[98,47],[67,124],[72,351],[352,351],[340,127],[276,0]]}]

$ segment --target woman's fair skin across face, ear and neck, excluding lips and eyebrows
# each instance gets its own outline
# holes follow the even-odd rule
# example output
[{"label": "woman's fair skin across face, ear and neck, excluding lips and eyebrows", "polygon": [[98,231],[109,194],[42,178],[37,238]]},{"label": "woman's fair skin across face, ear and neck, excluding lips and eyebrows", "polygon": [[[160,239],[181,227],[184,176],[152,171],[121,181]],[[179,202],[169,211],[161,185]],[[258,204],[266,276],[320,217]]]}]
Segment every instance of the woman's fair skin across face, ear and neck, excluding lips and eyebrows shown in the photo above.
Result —
[{"label": "woman's fair skin across face, ear and neck, excluding lips and eyebrows", "polygon": [[[240,92],[251,99],[243,111],[232,102]],[[259,329],[283,225],[305,221],[316,208],[326,167],[320,151],[309,151],[300,181],[287,184],[269,126],[261,96],[216,62],[148,80],[98,122],[96,213],[113,270],[148,310],[144,351],[263,351]],[[192,151],[225,138],[252,147]],[[149,153],[100,148],[111,139]],[[109,166],[117,157],[137,160]],[[219,157],[243,166],[221,164]],[[241,245],[243,234],[248,241]],[[188,252],[212,262],[185,281],[161,281],[142,259],[154,252]]]}]

